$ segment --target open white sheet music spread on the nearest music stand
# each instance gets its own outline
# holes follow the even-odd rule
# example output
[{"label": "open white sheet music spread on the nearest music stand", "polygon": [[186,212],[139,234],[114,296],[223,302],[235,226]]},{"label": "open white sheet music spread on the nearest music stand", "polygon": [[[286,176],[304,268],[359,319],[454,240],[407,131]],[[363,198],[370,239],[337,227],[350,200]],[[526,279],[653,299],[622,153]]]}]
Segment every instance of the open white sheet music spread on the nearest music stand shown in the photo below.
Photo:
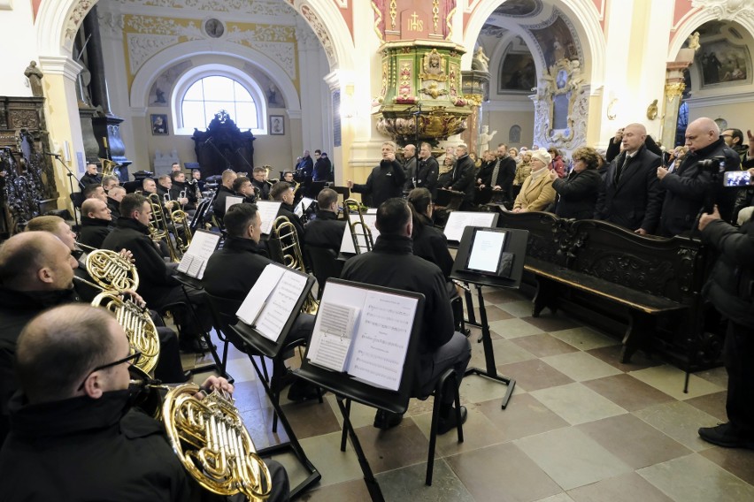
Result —
[{"label": "open white sheet music spread on the nearest music stand", "polygon": [[[327,312],[321,308],[328,303],[340,308],[352,308],[358,313],[358,316],[354,314],[355,327],[352,330],[352,340],[349,346],[345,347],[348,354],[343,360],[342,368],[361,382],[397,391],[403,376],[418,300],[350,285],[328,283],[319,306],[320,311],[312,332],[307,358],[314,364],[342,371],[343,369],[337,369],[342,355],[338,353],[335,357],[335,353],[342,351],[345,342],[341,342],[340,336],[318,330],[322,325],[319,319]],[[343,314],[342,312],[341,316]],[[341,326],[343,321],[342,318]],[[337,326],[337,323],[335,325]],[[337,328],[333,331],[339,332]],[[340,346],[327,346],[329,342],[335,341],[330,337],[338,338]],[[326,340],[326,350],[332,351],[331,353],[322,354],[323,339]],[[315,359],[312,359],[312,356]]]}]

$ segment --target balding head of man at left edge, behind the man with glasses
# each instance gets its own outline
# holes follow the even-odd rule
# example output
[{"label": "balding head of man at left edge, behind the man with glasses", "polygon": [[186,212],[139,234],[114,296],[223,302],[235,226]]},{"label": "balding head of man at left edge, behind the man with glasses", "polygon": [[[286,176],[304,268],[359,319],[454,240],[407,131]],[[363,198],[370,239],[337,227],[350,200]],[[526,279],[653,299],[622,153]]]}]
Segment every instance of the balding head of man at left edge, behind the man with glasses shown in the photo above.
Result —
[{"label": "balding head of man at left edge, behind the man with glasses", "polygon": [[52,233],[17,233],[0,246],[0,284],[15,291],[67,289],[74,262],[71,250]]}]

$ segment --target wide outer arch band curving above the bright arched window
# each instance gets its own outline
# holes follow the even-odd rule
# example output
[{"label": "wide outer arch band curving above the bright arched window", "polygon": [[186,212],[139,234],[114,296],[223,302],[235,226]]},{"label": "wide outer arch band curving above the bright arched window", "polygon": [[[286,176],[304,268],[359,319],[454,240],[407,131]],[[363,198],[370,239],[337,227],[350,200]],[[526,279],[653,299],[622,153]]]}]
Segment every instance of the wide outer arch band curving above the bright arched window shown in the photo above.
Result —
[{"label": "wide outer arch band curving above the bright arched window", "polygon": [[275,82],[285,98],[286,108],[290,112],[300,112],[301,102],[298,91],[290,80],[289,75],[275,63],[270,57],[256,49],[225,41],[192,41],[173,45],[161,50],[144,63],[136,73],[134,82],[131,84],[129,95],[130,105],[135,108],[146,108],[149,105],[150,87],[160,72],[165,68],[180,63],[191,57],[212,54],[223,55],[239,63],[249,63],[257,66],[261,72],[265,72]]}]

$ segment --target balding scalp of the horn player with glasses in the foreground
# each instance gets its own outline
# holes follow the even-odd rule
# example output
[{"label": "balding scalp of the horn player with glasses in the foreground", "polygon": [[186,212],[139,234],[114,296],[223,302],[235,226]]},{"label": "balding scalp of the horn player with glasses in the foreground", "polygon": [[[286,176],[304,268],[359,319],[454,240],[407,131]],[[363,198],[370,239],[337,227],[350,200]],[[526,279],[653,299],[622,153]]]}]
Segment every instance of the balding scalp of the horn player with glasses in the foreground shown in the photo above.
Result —
[{"label": "balding scalp of the horn player with glasses in the foreground", "polygon": [[21,331],[19,384],[32,403],[73,397],[92,369],[123,357],[112,336],[125,334],[104,308],[69,304],[42,312]]}]

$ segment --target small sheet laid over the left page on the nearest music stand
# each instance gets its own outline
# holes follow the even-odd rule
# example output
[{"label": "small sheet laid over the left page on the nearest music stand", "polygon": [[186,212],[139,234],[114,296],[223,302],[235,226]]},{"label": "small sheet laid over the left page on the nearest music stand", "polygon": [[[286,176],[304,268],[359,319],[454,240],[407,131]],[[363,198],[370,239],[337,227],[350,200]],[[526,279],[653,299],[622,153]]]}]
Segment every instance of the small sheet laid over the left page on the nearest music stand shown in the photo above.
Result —
[{"label": "small sheet laid over the left page on the nearest music stand", "polygon": [[317,322],[309,344],[309,360],[335,371],[344,371],[353,334],[353,325],[358,318],[358,308],[320,303]]}]

